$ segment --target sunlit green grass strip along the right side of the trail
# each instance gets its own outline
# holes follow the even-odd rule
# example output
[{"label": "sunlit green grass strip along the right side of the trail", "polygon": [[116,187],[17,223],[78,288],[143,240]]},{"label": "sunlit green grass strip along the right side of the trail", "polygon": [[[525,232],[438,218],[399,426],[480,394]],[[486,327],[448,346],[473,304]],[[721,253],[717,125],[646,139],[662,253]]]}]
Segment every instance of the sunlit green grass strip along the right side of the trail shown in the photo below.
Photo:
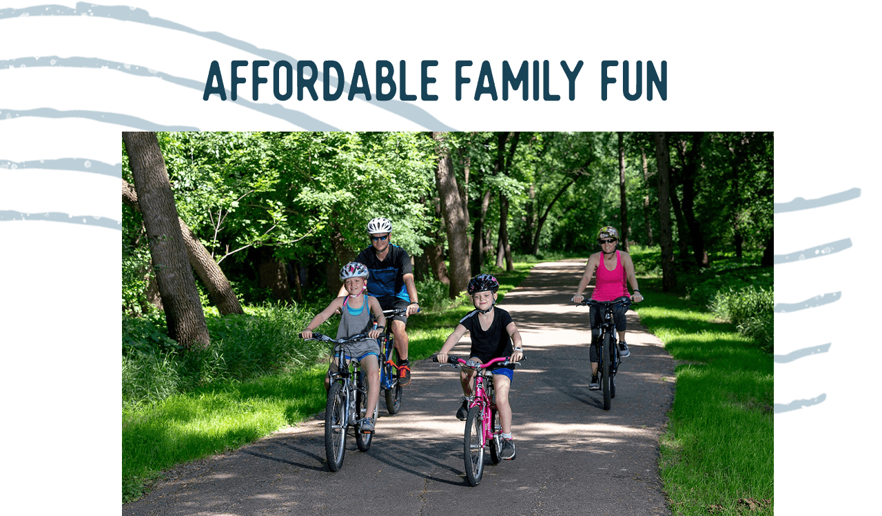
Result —
[{"label": "sunlit green grass strip along the right side of the trail", "polygon": [[[642,322],[677,361],[661,439],[664,490],[675,514],[774,512],[772,356],[735,325],[641,279]],[[747,501],[749,500],[749,501]]]}]

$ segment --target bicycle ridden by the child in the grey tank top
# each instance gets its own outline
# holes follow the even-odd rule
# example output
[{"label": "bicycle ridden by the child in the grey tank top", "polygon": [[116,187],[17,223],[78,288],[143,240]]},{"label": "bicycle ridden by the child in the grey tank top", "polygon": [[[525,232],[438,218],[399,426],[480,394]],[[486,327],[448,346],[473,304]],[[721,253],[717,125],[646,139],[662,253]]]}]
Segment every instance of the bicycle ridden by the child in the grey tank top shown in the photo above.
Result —
[{"label": "bicycle ridden by the child in the grey tank top", "polygon": [[[355,340],[368,339],[367,333],[359,333],[350,339],[334,340],[321,333],[312,333],[311,340],[334,343],[334,357],[337,359],[337,372],[331,373],[331,388],[325,405],[325,456],[331,471],[339,471],[346,455],[348,427],[355,428],[355,444],[362,452],[370,449],[374,434],[363,433],[361,423],[368,417],[368,383],[362,364],[347,353],[347,344]],[[350,356],[347,359],[347,356]],[[374,407],[371,416],[377,421],[379,405]]]}]

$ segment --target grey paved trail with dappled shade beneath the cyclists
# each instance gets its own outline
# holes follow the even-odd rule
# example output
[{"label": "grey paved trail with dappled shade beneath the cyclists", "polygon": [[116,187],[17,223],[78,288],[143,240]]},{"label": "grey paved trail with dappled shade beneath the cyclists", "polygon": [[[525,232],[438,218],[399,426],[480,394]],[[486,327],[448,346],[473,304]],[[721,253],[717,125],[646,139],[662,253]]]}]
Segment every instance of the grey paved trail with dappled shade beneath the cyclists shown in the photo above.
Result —
[{"label": "grey paved trail with dappled shade beneath the cyclists", "polygon": [[[398,415],[380,400],[370,451],[359,452],[350,435],[340,471],[325,463],[320,414],[177,467],[148,496],[123,505],[123,515],[669,514],[658,441],[674,397],[674,360],[629,310],[632,353],[619,368],[612,408],[603,410],[602,393],[588,390],[587,307],[570,302],[584,265],[535,265],[499,303],[527,356],[510,394],[517,456],[488,460],[480,485],[469,486],[464,471],[459,373],[427,359],[412,363]],[[466,336],[452,354],[468,347]]]}]

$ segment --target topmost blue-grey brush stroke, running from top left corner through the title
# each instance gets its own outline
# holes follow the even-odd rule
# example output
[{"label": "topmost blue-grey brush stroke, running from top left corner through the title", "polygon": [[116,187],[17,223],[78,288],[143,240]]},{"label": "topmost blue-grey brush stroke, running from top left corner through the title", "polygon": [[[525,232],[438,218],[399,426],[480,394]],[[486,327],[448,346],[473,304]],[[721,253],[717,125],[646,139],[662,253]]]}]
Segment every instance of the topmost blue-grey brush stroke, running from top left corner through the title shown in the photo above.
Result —
[{"label": "topmost blue-grey brush stroke, running from top left corner through the title", "polygon": [[[234,49],[242,50],[243,52],[248,52],[249,54],[252,54],[254,56],[262,57],[264,59],[272,61],[273,63],[278,63],[279,61],[285,60],[294,66],[296,66],[297,64],[297,60],[294,57],[288,56],[288,54],[285,54],[284,52],[279,52],[273,49],[261,49],[258,46],[249,43],[248,41],[242,41],[217,31],[198,31],[189,26],[177,23],[176,21],[151,16],[150,12],[146,11],[146,9],[132,7],[131,5],[99,5],[90,4],[88,2],[77,2],[76,7],[72,8],[68,5],[41,4],[21,8],[6,7],[4,9],[0,9],[0,19],[16,19],[38,16],[85,16],[89,18],[129,21],[146,26],[155,26],[159,28],[173,30],[184,34],[192,34],[201,38],[205,38],[206,40],[216,41],[218,43],[221,43],[222,45],[227,45],[228,47],[232,47]],[[311,77],[311,74],[308,77]],[[337,87],[337,78],[333,76],[328,76],[328,79],[331,86]],[[322,73],[321,71],[318,71],[318,81],[325,82],[324,73]],[[343,84],[345,85],[343,86],[343,91],[348,92],[349,83],[343,81]],[[200,91],[205,91],[205,83],[203,83]],[[355,98],[360,101],[366,101],[371,106],[375,106],[377,108],[388,111],[393,115],[400,116],[405,120],[409,120],[410,122],[420,125],[424,129],[434,131],[459,131],[457,129],[453,129],[446,123],[442,123],[440,120],[437,119],[436,116],[431,115],[425,109],[420,108],[419,106],[415,106],[410,102],[400,101],[397,99],[392,99],[390,101],[377,101],[376,94],[373,93],[371,94],[370,100],[363,99],[362,97],[363,95],[355,95]]]}]

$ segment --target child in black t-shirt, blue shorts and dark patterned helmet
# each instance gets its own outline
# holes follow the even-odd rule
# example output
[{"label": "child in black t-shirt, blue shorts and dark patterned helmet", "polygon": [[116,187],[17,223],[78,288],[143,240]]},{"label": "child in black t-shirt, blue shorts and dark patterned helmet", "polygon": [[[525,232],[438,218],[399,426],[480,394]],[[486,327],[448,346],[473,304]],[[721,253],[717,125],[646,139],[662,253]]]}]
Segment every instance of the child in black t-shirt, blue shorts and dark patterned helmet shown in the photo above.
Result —
[{"label": "child in black t-shirt, blue shorts and dark patterned helmet", "polygon": [[[475,310],[460,320],[453,333],[447,337],[444,346],[437,354],[439,363],[447,362],[447,353],[469,332],[472,338],[471,360],[487,363],[490,359],[508,356],[512,362],[523,357],[520,333],[512,322],[512,316],[505,310],[494,308],[497,300],[499,282],[490,274],[478,274],[468,281],[467,292],[472,296]],[[512,348],[512,341],[514,348]],[[460,383],[466,396],[472,395],[474,370],[461,370]],[[496,405],[499,411],[499,422],[502,425],[502,450],[499,456],[505,460],[514,459],[514,443],[512,441],[512,408],[508,404],[508,393],[512,386],[513,370],[499,368],[493,370],[493,384],[496,387]],[[467,402],[456,416],[465,420],[468,413]]]}]

